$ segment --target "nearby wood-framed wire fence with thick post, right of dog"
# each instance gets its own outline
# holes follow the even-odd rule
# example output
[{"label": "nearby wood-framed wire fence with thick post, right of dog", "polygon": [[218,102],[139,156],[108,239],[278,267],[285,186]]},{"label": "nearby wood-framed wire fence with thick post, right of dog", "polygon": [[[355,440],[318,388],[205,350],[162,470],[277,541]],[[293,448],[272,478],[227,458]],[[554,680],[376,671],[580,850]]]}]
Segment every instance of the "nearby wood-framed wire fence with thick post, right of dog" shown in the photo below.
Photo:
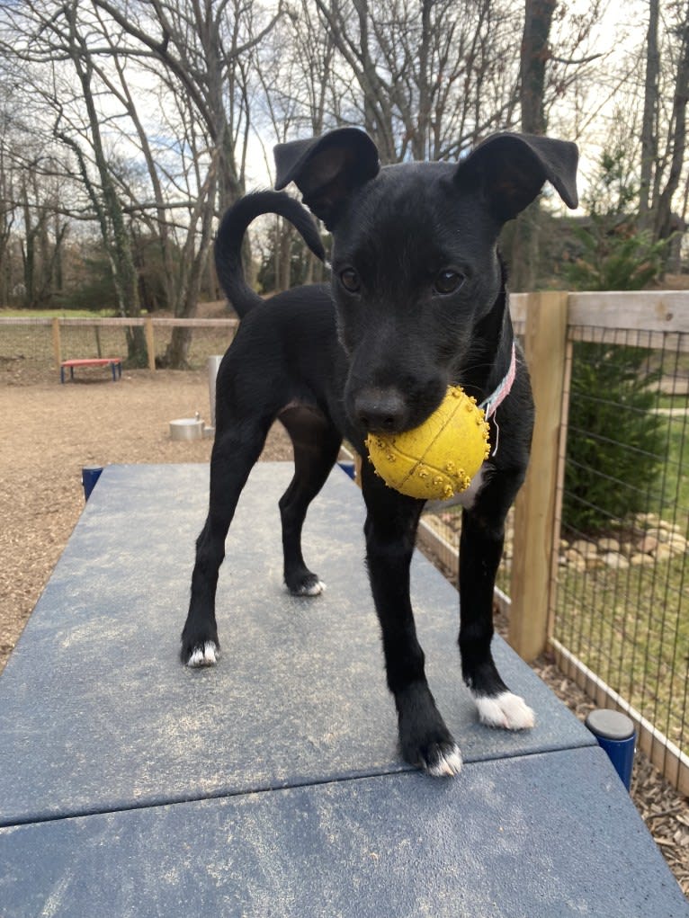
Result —
[{"label": "nearby wood-framed wire fence with thick post, right of dog", "polygon": [[[528,294],[513,296],[511,308],[537,427],[496,591],[510,644],[525,659],[550,650],[596,703],[629,714],[639,746],[689,793],[689,293]],[[590,464],[592,480],[600,486],[603,478],[615,498],[612,510],[591,508],[595,535],[563,521],[563,506],[587,500],[568,492],[572,443],[585,440],[593,455],[624,449],[633,457],[640,447],[624,442],[621,421],[638,408],[614,404],[605,387],[580,392],[577,374],[595,373],[581,342],[644,357],[637,372],[654,435],[643,449],[659,466],[649,480],[629,483]],[[589,412],[612,415],[609,429],[569,428],[570,412],[587,414],[582,400]],[[424,518],[420,534],[450,569],[459,528],[448,509]]]}]

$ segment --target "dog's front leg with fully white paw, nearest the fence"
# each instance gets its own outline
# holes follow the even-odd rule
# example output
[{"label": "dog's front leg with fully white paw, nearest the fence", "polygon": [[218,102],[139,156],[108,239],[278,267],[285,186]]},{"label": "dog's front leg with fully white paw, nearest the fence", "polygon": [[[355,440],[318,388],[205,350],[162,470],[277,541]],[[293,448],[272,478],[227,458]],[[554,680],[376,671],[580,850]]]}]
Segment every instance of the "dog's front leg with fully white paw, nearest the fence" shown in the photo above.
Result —
[{"label": "dog's front leg with fully white paw, nearest the fence", "polygon": [[534,711],[504,684],[491,654],[493,590],[503,554],[504,518],[509,508],[498,481],[462,515],[459,541],[459,652],[462,674],[480,721],[505,730],[533,727]]}]

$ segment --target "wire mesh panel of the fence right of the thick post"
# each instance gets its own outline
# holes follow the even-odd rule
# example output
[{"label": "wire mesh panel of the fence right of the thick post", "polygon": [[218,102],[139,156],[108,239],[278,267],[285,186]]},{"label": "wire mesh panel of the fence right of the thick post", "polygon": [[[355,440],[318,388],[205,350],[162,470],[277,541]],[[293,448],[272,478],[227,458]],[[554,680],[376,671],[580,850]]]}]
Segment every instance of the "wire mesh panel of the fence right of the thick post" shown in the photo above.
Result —
[{"label": "wire mesh panel of the fence right of the thick post", "polygon": [[613,344],[602,329],[569,335],[553,638],[652,725],[646,744],[684,785],[689,335],[627,330]]}]

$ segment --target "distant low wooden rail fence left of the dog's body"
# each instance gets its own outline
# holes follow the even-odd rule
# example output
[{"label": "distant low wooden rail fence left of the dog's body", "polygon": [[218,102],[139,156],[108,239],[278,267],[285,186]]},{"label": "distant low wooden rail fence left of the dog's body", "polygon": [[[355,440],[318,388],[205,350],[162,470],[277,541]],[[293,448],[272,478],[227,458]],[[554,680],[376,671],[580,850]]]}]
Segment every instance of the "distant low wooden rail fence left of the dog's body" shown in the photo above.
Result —
[{"label": "distant low wooden rail fence left of the dog's body", "polygon": [[206,365],[209,356],[225,353],[237,319],[9,319],[0,318],[0,360],[22,359],[37,365],[59,366],[79,357],[125,357],[127,334],[142,328],[149,369],[160,363],[173,329],[193,330],[189,363]]}]

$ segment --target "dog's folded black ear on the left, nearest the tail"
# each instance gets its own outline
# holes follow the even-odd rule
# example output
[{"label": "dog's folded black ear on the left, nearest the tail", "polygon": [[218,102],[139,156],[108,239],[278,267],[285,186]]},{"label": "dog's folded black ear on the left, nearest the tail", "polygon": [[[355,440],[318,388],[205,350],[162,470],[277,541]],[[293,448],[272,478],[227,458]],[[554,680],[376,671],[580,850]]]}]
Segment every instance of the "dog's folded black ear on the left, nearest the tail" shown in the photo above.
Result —
[{"label": "dog's folded black ear on the left, nearest the tail", "polygon": [[278,143],[276,188],[298,186],[304,204],[328,229],[355,188],[378,174],[378,150],[363,130],[339,128],[313,140]]}]

